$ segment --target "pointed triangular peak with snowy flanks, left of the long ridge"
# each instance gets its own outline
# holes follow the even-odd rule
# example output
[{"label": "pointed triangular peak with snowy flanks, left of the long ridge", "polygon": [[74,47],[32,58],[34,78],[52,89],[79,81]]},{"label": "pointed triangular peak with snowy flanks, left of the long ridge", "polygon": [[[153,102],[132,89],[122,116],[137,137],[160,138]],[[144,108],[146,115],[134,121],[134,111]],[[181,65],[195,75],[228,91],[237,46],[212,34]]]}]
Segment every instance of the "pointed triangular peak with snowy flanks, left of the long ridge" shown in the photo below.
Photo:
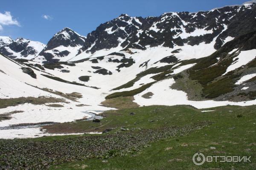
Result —
[{"label": "pointed triangular peak with snowy flanks, left of the long ridge", "polygon": [[70,28],[63,28],[56,33],[40,52],[35,61],[65,61],[75,56],[84,45],[86,37],[83,37]]}]

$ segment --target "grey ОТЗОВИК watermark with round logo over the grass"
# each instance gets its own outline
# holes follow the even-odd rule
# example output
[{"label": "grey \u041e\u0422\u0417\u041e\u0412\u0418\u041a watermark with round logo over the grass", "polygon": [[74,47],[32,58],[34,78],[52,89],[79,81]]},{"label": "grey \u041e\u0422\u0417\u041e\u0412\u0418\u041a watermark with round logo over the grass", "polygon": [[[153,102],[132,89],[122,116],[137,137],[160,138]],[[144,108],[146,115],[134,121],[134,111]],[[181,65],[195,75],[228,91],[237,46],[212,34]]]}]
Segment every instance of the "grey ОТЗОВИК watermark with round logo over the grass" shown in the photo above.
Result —
[{"label": "grey \u041e\u0422\u0417\u041e\u0412\u0418\u041a watermark with round logo over the grass", "polygon": [[195,153],[192,161],[195,165],[202,165],[205,162],[251,162],[251,156],[204,156],[203,153]]}]

